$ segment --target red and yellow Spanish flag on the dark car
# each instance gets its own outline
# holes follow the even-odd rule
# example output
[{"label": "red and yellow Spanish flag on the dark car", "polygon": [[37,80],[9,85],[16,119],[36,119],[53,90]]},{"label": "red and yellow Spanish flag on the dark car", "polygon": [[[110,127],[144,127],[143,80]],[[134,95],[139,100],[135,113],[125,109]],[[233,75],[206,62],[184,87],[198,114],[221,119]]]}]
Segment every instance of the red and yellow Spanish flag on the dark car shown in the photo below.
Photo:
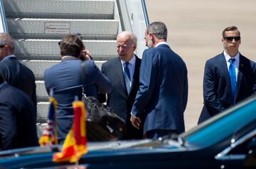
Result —
[{"label": "red and yellow Spanish flag on the dark car", "polygon": [[73,102],[73,126],[65,138],[62,152],[53,155],[54,162],[69,161],[74,163],[87,153],[87,138],[85,130],[85,106],[83,102]]}]

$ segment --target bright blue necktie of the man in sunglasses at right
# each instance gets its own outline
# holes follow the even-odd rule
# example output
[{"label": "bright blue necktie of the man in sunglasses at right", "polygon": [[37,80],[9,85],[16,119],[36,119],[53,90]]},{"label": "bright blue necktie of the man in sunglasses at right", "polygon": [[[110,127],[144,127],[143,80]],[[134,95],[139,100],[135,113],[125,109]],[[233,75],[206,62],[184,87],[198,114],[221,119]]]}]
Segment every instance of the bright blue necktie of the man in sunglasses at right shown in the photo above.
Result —
[{"label": "bright blue necktie of the man in sunglasses at right", "polygon": [[231,104],[235,104],[235,91],[236,91],[235,58],[231,58],[228,61],[230,62],[228,72],[230,75]]}]

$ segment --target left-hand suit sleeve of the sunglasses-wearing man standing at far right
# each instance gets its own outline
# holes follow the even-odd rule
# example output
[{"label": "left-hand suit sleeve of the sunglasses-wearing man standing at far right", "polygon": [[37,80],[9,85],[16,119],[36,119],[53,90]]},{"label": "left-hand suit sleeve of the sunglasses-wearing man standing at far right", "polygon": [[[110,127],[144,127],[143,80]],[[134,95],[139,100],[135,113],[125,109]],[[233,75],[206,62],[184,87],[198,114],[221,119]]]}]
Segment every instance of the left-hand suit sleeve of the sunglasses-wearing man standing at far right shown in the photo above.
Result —
[{"label": "left-hand suit sleeve of the sunglasses-wearing man standing at far right", "polygon": [[223,111],[225,108],[220,102],[216,95],[216,79],[214,75],[213,65],[209,61],[206,62],[205,73],[203,76],[203,99],[204,104],[208,108],[211,115],[218,114],[218,112]]}]

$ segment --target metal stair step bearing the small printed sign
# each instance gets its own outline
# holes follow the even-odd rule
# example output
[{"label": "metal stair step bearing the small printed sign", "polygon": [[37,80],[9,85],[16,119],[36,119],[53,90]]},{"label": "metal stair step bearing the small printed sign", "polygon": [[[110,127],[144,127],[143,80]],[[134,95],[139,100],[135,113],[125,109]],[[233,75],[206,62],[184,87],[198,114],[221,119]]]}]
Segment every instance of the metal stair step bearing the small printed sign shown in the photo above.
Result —
[{"label": "metal stair step bearing the small printed sign", "polygon": [[7,18],[14,38],[61,39],[68,33],[80,33],[86,40],[115,40],[117,20]]}]

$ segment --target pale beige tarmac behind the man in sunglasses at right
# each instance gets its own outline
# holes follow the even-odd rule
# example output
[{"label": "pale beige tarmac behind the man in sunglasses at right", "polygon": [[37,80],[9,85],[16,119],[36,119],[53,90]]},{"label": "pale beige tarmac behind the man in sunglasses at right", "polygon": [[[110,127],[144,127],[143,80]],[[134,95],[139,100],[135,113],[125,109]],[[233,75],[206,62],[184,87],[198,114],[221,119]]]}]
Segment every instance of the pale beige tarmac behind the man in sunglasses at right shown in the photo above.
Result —
[{"label": "pale beige tarmac behind the man in sunglasses at right", "polygon": [[188,67],[186,130],[196,126],[203,107],[203,71],[206,60],[222,53],[222,31],[237,26],[240,53],[256,61],[255,0],[146,0],[149,22],[162,21],[168,43]]}]

